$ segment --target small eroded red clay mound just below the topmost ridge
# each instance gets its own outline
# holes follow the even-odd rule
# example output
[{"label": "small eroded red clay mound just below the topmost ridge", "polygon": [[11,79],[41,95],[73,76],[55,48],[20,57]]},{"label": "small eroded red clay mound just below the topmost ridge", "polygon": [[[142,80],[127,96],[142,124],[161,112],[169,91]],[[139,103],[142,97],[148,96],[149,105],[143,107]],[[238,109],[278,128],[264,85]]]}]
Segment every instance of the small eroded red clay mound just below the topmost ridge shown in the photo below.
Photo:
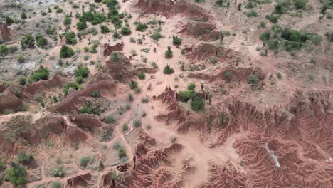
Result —
[{"label": "small eroded red clay mound just below the topmost ridge", "polygon": [[213,23],[198,23],[196,21],[189,21],[178,33],[199,36],[201,41],[216,41],[223,38],[223,34],[221,31],[216,31],[216,26]]}]

